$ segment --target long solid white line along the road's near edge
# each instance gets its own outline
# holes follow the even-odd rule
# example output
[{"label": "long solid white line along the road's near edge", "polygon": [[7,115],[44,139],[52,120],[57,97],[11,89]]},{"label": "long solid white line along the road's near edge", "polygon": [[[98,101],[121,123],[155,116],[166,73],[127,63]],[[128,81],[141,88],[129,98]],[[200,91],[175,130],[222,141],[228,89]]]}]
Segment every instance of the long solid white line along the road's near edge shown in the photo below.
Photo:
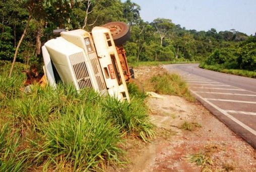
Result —
[{"label": "long solid white line along the road's near edge", "polygon": [[220,109],[218,106],[212,104],[211,102],[209,102],[208,100],[205,100],[203,97],[201,97],[199,94],[193,92],[190,90],[190,92],[194,93],[195,95],[197,95],[199,98],[201,98],[202,100],[204,100],[206,103],[208,103],[209,105],[211,105],[212,107],[214,107],[215,109],[217,109],[218,111],[220,111],[223,115],[227,116],[229,119],[231,119],[232,121],[234,121],[235,123],[237,123],[238,125],[240,125],[241,127],[243,127],[244,129],[246,129],[247,131],[251,132],[252,134],[254,134],[256,136],[256,131],[253,130],[252,128],[248,127],[247,125],[245,125],[244,123],[242,123],[241,121],[237,120],[236,118],[232,117],[231,115],[229,115],[227,112],[225,112],[224,110]]}]

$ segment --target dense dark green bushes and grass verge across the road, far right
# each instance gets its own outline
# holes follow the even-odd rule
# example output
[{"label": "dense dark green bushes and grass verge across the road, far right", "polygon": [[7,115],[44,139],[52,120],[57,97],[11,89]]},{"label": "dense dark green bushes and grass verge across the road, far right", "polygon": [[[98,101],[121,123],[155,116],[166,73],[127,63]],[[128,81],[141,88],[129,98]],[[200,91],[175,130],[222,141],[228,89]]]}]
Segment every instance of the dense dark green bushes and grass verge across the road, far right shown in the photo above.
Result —
[{"label": "dense dark green bushes and grass verge across the road, far right", "polygon": [[200,67],[256,78],[256,37],[249,37],[233,48],[216,49]]}]

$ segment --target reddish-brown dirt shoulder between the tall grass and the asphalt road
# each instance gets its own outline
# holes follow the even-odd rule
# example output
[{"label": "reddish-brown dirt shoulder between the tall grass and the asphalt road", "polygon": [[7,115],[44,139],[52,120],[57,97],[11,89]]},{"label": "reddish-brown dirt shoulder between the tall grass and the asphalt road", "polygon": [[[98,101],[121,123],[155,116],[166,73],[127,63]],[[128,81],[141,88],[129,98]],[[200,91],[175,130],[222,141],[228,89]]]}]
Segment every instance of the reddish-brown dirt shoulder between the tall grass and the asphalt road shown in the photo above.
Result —
[{"label": "reddish-brown dirt shoulder between the tall grass and the asphalt road", "polygon": [[[146,91],[154,91],[149,79],[161,72],[162,67],[135,68]],[[160,95],[147,104],[156,137],[151,143],[128,140],[132,163],[118,171],[256,171],[256,151],[199,102]]]}]

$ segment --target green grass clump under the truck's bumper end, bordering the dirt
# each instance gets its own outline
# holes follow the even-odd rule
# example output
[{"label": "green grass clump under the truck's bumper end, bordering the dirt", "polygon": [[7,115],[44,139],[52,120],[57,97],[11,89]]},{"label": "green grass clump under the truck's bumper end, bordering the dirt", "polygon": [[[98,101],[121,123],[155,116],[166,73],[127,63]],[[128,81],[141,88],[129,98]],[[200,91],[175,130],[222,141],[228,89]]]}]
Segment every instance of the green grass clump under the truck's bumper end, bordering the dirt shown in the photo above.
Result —
[{"label": "green grass clump under the truck's bumper end, bordering the dirt", "polygon": [[109,118],[112,118],[123,133],[148,141],[154,137],[153,125],[147,115],[143,98],[132,97],[131,102],[119,102],[108,97],[104,103]]}]

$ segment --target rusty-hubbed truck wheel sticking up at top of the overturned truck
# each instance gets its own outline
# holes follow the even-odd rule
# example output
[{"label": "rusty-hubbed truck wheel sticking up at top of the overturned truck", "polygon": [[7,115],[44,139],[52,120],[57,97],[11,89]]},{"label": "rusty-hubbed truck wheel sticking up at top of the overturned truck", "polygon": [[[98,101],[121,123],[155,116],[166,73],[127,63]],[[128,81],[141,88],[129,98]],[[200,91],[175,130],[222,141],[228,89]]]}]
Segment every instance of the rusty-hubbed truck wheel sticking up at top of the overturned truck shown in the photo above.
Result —
[{"label": "rusty-hubbed truck wheel sticking up at top of the overturned truck", "polygon": [[115,45],[122,45],[130,38],[130,27],[124,22],[110,22],[102,27],[110,30]]}]

